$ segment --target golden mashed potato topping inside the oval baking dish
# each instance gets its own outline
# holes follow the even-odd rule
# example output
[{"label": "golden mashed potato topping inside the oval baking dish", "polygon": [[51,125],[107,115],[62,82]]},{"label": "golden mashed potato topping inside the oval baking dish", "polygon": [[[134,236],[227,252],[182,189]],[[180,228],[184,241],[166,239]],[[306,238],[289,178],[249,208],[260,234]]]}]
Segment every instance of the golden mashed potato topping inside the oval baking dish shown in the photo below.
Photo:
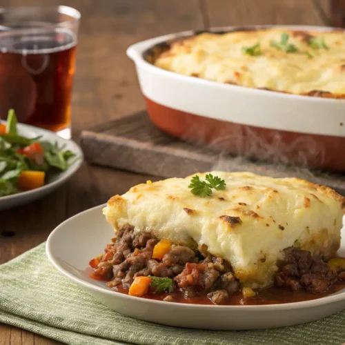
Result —
[{"label": "golden mashed potato topping inside the oval baking dish", "polygon": [[154,63],[181,75],[248,88],[345,97],[345,34],[341,30],[205,32],[172,43]]}]

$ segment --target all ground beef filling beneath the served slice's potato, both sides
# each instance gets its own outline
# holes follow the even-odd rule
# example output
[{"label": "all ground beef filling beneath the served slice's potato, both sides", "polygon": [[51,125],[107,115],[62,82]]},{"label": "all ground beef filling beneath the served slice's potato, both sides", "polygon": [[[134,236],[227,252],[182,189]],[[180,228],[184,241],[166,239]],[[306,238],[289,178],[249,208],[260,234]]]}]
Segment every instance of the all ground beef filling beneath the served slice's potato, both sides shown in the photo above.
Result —
[{"label": "all ground beef filling beneath the served slice's potato, both sides", "polygon": [[[135,277],[155,276],[173,279],[184,297],[207,295],[214,304],[224,304],[239,290],[239,284],[228,262],[213,257],[207,246],[192,250],[174,246],[161,258],[152,259],[153,249],[159,242],[155,235],[135,233],[132,226],[117,231],[105,254],[100,255],[94,268],[98,277],[110,280],[110,288],[130,288]],[[333,270],[311,253],[296,247],[287,248],[284,261],[279,264],[275,285],[291,290],[305,289],[310,293],[327,293],[337,280],[345,280],[345,270]],[[173,302],[172,296],[164,300]]]}]

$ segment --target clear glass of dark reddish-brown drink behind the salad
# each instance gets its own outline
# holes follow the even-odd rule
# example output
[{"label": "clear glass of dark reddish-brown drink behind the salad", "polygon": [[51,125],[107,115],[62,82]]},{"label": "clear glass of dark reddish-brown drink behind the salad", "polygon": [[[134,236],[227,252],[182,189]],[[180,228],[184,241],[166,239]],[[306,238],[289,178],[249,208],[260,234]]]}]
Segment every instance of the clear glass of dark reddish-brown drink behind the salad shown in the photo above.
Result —
[{"label": "clear glass of dark reddish-brown drink behind the salad", "polygon": [[0,119],[70,139],[80,13],[67,6],[0,9]]}]

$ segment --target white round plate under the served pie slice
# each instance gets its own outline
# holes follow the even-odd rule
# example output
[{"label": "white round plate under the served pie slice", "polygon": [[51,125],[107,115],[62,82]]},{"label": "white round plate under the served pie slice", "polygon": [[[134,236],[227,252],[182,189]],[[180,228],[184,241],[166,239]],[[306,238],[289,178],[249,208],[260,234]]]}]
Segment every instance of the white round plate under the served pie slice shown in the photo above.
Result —
[{"label": "white round plate under the served pie slice", "polygon": [[[118,313],[170,326],[240,330],[302,324],[345,308],[345,290],[313,301],[266,306],[202,306],[116,293],[105,282],[91,279],[87,270],[90,259],[103,253],[113,237],[102,215],[104,206],[86,210],[59,225],[48,237],[46,253],[55,268]],[[339,254],[345,255],[344,241]]]}]

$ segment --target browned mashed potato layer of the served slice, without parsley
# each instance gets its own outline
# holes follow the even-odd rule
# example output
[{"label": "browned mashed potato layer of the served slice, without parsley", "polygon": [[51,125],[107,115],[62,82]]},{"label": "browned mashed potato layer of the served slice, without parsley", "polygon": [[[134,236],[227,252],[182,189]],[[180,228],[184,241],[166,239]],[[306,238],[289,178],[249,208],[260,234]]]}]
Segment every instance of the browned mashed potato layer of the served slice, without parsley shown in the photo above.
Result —
[{"label": "browned mashed potato layer of the served slice, without parsley", "polygon": [[284,248],[324,259],[337,252],[345,199],[331,188],[249,172],[211,173],[226,181],[225,190],[197,197],[188,188],[191,176],[148,181],[112,197],[103,213],[115,231],[130,224],[175,244],[207,246],[252,288],[273,284]]}]

